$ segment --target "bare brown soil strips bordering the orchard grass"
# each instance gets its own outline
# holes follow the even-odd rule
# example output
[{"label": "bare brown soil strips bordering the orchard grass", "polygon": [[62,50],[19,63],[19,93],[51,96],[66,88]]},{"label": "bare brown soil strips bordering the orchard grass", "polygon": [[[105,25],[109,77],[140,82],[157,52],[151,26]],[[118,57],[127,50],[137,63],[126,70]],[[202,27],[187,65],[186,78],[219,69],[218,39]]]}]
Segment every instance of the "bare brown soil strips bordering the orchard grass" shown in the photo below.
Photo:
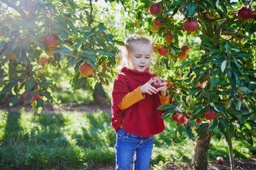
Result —
[{"label": "bare brown soil strips bordering the orchard grass", "polygon": [[[19,112],[21,106],[15,106],[8,108],[7,110],[11,112]],[[31,106],[27,105],[25,110],[28,112],[32,112]],[[62,110],[65,111],[77,111],[77,112],[96,112],[97,110],[102,110],[103,112],[109,113],[110,105],[97,105],[97,104],[90,104],[90,105],[78,105],[78,104],[71,104],[71,103],[63,103],[63,104],[52,104],[52,103],[45,103],[44,110],[42,111],[43,114],[53,113],[53,112],[60,112]],[[184,170],[192,169],[190,163],[182,163],[180,164],[168,164],[166,165],[166,169],[181,169],[183,167]],[[217,163],[217,161],[211,161],[209,163],[209,167],[211,170],[229,170],[230,169],[230,162],[225,161],[223,164]],[[112,170],[115,169],[115,165],[110,165],[106,167],[99,167],[97,170]],[[151,168],[152,169],[152,168]],[[246,159],[243,161],[235,161],[235,169],[236,170],[255,170],[256,169],[256,158],[253,159]]]}]

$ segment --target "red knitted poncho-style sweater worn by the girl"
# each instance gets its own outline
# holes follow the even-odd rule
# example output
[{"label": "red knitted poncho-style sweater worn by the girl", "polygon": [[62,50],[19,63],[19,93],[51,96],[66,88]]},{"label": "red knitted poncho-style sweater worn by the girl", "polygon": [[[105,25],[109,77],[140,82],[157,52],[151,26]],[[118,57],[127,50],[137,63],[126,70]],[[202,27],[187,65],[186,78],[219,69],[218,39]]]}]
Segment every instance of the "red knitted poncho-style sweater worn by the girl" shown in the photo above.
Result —
[{"label": "red knitted poncho-style sweater worn by the girl", "polygon": [[144,99],[125,110],[120,110],[118,107],[127,93],[144,85],[151,77],[155,76],[149,71],[138,72],[124,67],[121,73],[115,77],[111,101],[111,125],[116,132],[122,118],[123,128],[138,136],[148,137],[164,130],[164,120],[161,118],[163,112],[157,110],[161,105],[158,93],[152,95],[145,93]]}]

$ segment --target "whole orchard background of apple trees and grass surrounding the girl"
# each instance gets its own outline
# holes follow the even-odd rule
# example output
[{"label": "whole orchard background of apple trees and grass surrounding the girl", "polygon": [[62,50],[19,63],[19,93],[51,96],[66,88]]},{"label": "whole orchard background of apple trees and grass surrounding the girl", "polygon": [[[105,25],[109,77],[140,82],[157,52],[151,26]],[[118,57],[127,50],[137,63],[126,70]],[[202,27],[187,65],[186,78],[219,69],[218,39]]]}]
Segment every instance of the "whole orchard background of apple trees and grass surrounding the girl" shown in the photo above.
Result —
[{"label": "whole orchard background of apple trees and grass surrounding the girl", "polygon": [[255,1],[2,0],[0,11],[1,169],[114,168],[108,108],[132,33],[151,38],[172,97],[151,167],[255,169]]}]

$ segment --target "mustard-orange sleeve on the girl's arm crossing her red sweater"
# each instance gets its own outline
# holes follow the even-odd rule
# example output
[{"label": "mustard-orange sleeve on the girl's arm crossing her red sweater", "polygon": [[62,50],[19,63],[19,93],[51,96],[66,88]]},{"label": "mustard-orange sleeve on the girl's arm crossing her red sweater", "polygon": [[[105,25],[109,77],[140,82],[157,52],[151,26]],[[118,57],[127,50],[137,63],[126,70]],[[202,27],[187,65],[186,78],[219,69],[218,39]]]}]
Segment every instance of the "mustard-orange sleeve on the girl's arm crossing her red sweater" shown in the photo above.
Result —
[{"label": "mustard-orange sleeve on the girl's arm crossing her red sweater", "polygon": [[140,86],[139,86],[133,91],[127,93],[125,97],[123,97],[122,101],[119,103],[118,107],[121,110],[125,110],[129,108],[131,105],[137,103],[138,101],[144,98],[145,98],[145,95],[141,93]]}]

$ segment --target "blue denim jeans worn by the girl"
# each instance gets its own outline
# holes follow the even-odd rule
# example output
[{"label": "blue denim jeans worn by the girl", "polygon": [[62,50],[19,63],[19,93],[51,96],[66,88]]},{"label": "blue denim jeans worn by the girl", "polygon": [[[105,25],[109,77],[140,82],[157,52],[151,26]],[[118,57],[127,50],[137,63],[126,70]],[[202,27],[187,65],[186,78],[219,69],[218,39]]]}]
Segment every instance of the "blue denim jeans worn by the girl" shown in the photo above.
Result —
[{"label": "blue denim jeans worn by the girl", "polygon": [[126,132],[123,128],[117,131],[116,169],[129,170],[133,160],[133,170],[150,169],[150,159],[153,149],[153,138],[141,137]]}]

